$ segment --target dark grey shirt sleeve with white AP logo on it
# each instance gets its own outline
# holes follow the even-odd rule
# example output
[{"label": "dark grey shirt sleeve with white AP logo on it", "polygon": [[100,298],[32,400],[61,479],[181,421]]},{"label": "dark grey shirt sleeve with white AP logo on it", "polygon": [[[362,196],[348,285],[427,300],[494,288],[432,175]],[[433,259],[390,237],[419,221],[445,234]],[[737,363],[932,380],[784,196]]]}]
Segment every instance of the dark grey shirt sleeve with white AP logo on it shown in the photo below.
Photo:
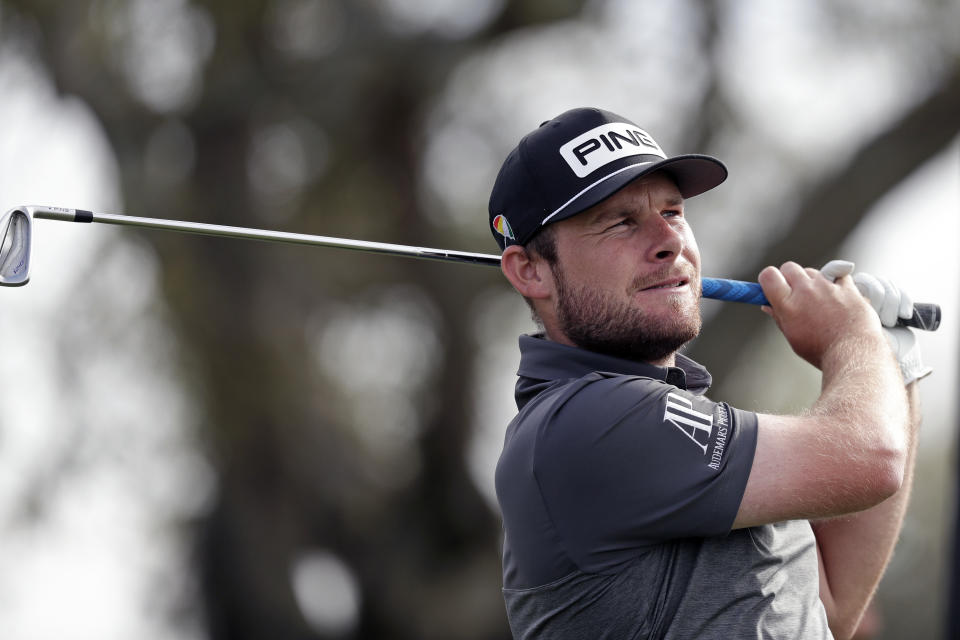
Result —
[{"label": "dark grey shirt sleeve with white AP logo on it", "polygon": [[534,475],[581,569],[665,540],[725,535],[756,449],[756,414],[658,380],[594,373],[540,425]]}]

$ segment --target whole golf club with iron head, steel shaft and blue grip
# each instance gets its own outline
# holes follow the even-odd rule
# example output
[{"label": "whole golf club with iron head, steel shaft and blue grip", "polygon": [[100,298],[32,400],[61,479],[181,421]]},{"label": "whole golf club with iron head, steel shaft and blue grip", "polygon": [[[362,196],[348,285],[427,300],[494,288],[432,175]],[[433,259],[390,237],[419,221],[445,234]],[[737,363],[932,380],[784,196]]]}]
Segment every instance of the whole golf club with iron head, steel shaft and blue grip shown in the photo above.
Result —
[{"label": "whole golf club with iron head, steel shaft and blue grip", "polygon": [[[125,225],[165,231],[180,231],[224,238],[243,238],[246,240],[264,240],[318,247],[332,247],[366,251],[422,260],[440,260],[444,262],[462,262],[491,267],[500,266],[500,256],[484,253],[449,251],[411,247],[384,242],[349,240],[327,236],[287,233],[284,231],[266,231],[246,227],[230,227],[200,222],[180,220],[161,220],[157,218],[138,218],[110,213],[94,213],[83,209],[62,207],[23,206],[7,211],[0,218],[0,286],[17,287],[30,280],[30,247],[33,235],[33,220],[60,220],[63,222],[100,222],[103,224]],[[769,304],[763,295],[763,289],[755,282],[726,280],[723,278],[701,278],[703,296],[714,300],[744,302],[748,304]],[[913,317],[899,321],[903,326],[935,331],[940,326],[940,307],[936,304],[917,303],[913,307]]]}]

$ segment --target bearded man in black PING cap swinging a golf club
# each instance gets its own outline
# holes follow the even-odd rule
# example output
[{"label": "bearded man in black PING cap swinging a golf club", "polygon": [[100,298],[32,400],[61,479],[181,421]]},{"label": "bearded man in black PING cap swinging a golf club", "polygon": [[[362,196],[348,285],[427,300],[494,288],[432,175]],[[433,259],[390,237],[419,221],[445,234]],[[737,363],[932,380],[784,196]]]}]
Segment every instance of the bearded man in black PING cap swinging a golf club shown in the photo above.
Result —
[{"label": "bearded man in black PING cap swinging a golf club", "polygon": [[884,327],[912,304],[850,263],[768,267],[764,310],[822,393],[798,416],[707,399],[678,353],[700,331],[685,200],[726,173],[599,109],[501,168],[503,273],[543,328],[496,473],[517,638],[847,638],[892,553],[929,370]]}]

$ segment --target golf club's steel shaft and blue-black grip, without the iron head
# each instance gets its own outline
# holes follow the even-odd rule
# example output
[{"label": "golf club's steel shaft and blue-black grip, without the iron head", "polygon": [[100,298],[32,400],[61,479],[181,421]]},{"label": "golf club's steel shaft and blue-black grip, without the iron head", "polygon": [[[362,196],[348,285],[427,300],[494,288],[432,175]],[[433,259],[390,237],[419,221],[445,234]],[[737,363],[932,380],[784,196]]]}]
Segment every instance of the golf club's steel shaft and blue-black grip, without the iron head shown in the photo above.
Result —
[{"label": "golf club's steel shaft and blue-black grip, without the iron head", "polygon": [[[383,255],[403,256],[421,260],[437,260],[443,262],[461,262],[479,264],[491,267],[500,266],[500,256],[485,253],[469,253],[465,251],[450,251],[447,249],[431,249],[428,247],[412,247],[402,244],[386,242],[370,242],[366,240],[351,240],[347,238],[332,238],[303,233],[288,233],[285,231],[268,231],[251,229],[248,227],[231,227],[202,222],[185,222],[181,220],[161,220],[159,218],[139,218],[137,216],[123,216],[110,213],[95,213],[83,209],[66,209],[60,207],[24,207],[34,218],[42,220],[60,220],[65,222],[99,222],[145,229],[160,229],[163,231],[179,231],[205,236],[221,238],[241,238],[244,240],[262,240],[265,242],[282,242],[314,247],[331,247],[336,249],[350,249]],[[763,294],[763,289],[755,282],[727,280],[724,278],[702,278],[703,296],[714,300],[728,302],[743,302],[747,304],[769,304]],[[934,304],[915,305],[914,318],[903,322],[906,326],[932,331],[940,323],[940,308]]]}]

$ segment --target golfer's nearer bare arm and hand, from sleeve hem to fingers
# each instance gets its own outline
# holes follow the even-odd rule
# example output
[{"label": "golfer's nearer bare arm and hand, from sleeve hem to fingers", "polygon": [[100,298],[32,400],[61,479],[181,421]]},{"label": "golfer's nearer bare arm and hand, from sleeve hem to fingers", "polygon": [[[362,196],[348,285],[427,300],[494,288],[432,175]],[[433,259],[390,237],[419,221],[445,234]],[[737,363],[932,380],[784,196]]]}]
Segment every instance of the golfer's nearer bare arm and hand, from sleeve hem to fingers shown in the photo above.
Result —
[{"label": "golfer's nearer bare arm and hand, from sleeve hem to fingers", "polygon": [[897,363],[850,278],[787,263],[760,274],[769,312],[794,351],[823,372],[803,415],[759,415],[734,528],[868,509],[900,488],[909,429]]}]

